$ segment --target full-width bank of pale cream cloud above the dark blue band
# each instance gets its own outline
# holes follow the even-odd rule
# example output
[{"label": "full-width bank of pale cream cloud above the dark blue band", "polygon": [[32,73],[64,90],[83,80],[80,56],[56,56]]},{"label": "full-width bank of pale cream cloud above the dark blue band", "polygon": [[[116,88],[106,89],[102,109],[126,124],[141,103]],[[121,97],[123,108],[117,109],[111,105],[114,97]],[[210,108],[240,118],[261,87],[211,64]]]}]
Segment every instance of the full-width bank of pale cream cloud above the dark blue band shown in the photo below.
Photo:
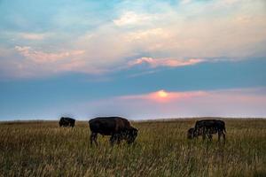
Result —
[{"label": "full-width bank of pale cream cloud above the dark blue band", "polygon": [[[35,71],[30,68],[35,67],[31,62],[45,64],[38,68],[49,75],[69,71],[107,73],[121,70],[123,65],[146,64],[154,69],[217,61],[215,58],[237,61],[266,56],[266,13],[260,0],[184,0],[176,4],[122,1],[112,4],[108,12],[112,15],[107,17],[96,10],[88,14],[93,4],[74,5],[81,11],[74,11],[68,4],[71,18],[67,16],[69,11],[60,9],[56,11],[59,14],[51,14],[56,18],[43,21],[43,31],[31,31],[32,23],[28,23],[29,27],[1,32],[1,47],[16,48],[3,58],[23,65],[30,73]],[[83,16],[86,18],[77,22]],[[17,61],[18,52],[26,62]]]}]

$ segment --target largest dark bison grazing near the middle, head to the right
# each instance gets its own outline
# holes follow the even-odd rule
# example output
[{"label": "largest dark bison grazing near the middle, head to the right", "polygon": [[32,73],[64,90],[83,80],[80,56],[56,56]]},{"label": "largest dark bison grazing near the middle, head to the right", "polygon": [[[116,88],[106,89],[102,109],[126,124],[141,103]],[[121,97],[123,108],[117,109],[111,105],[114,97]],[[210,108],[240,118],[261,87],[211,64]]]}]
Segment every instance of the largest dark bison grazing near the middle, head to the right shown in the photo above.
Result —
[{"label": "largest dark bison grazing near the middle, head to the right", "polygon": [[111,135],[110,143],[120,143],[126,140],[129,144],[134,142],[137,137],[137,128],[131,127],[129,120],[121,117],[98,117],[90,119],[90,144],[97,142],[97,135]]}]

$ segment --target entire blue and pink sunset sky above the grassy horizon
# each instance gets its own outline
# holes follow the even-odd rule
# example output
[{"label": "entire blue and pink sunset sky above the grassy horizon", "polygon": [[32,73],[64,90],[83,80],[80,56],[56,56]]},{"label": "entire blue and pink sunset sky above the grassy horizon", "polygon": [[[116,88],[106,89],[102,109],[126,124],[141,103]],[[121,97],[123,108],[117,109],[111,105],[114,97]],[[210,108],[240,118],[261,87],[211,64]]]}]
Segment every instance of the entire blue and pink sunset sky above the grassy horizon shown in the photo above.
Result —
[{"label": "entire blue and pink sunset sky above the grassy horizon", "polygon": [[264,0],[0,0],[0,120],[266,118]]}]

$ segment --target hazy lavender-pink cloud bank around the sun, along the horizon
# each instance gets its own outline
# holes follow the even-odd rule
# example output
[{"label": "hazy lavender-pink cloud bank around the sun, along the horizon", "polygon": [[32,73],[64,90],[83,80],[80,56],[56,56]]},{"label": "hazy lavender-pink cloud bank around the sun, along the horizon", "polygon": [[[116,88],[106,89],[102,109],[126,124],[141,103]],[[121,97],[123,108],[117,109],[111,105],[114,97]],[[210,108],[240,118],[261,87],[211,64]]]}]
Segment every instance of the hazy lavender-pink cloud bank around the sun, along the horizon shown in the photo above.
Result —
[{"label": "hazy lavender-pink cloud bank around the sun, along the horizon", "polygon": [[[222,89],[117,96],[84,104],[91,117],[121,115],[129,119],[180,117],[265,117],[266,89]],[[89,110],[88,110],[89,109]]]}]

